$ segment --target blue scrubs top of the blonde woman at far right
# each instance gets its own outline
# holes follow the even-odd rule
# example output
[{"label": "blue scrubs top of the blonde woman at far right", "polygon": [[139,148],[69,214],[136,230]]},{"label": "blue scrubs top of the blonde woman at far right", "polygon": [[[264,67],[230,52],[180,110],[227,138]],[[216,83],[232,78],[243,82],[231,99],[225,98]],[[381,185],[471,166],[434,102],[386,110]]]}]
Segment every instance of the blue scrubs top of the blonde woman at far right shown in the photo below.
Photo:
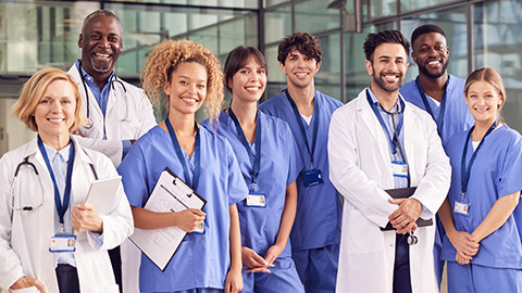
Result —
[{"label": "blue scrubs top of the blonde woman at far right", "polygon": [[[473,154],[467,136],[468,131],[455,135],[446,146],[452,167],[448,200],[457,230],[472,233],[499,198],[522,190],[522,137],[505,125],[485,138],[471,168],[465,194],[465,201],[470,204],[469,216],[463,216],[453,212],[453,205],[455,201],[460,202],[462,198],[461,158],[464,143],[468,148],[467,166]],[[498,230],[481,241],[478,253],[471,263],[494,268],[522,268],[520,233],[522,230],[519,230],[513,213]],[[455,254],[456,250],[445,235],[442,258],[455,262]]]}]

